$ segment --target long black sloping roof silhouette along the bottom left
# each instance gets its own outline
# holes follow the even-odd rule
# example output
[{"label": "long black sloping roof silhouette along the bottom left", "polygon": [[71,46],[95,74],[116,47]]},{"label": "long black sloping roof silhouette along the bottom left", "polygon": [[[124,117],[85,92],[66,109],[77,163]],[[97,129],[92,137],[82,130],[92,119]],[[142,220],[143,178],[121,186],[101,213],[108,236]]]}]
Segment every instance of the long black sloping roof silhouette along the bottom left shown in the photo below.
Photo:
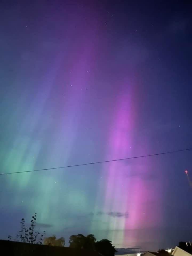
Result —
[{"label": "long black sloping roof silhouette along the bottom left", "polygon": [[49,245],[36,245],[30,243],[13,242],[7,240],[0,240],[1,251],[3,249],[8,255],[20,256],[101,256],[96,251],[89,251],[84,249],[73,249],[69,247],[49,246]]}]

